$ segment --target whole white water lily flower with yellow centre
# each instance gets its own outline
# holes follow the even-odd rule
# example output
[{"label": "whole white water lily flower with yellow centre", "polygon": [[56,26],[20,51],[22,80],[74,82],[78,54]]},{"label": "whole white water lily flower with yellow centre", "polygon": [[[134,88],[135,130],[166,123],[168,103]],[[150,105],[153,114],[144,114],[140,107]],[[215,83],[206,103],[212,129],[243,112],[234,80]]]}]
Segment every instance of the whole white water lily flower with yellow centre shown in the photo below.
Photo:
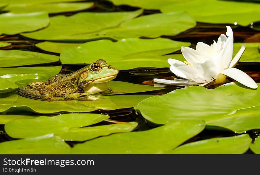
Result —
[{"label": "whole white water lily flower with yellow centre", "polygon": [[[234,68],[246,49],[245,45],[242,45],[232,60],[233,31],[229,26],[227,26],[226,35],[221,34],[217,42],[214,41],[210,46],[198,42],[196,50],[181,47],[181,52],[187,62],[183,63],[170,58],[168,59],[170,70],[178,77],[186,79],[181,81],[185,81],[186,84],[190,85],[205,86],[224,83],[227,75],[249,88],[256,89],[256,82],[251,77],[245,72]],[[154,81],[166,84],[178,84],[179,82],[181,84],[178,79],[154,79]]]}]

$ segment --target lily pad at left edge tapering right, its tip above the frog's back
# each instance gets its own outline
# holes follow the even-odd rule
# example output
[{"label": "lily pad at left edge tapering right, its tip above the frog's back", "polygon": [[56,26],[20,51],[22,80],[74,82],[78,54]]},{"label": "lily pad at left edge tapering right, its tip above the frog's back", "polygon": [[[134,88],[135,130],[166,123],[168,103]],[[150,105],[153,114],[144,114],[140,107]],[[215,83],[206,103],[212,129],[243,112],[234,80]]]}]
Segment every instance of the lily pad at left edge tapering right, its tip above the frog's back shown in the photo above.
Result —
[{"label": "lily pad at left edge tapering right, its tip above the frog's back", "polygon": [[0,67],[13,67],[56,62],[58,56],[22,50],[0,50]]}]

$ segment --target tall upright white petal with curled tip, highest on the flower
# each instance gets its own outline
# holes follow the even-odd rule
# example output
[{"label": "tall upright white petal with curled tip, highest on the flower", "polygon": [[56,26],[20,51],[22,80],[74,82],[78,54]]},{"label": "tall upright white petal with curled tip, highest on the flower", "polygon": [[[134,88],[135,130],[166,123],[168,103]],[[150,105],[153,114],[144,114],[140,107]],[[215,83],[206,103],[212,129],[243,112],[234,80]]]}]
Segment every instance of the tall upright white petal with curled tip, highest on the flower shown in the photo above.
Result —
[{"label": "tall upright white petal with curled tip, highest on the flower", "polygon": [[221,57],[219,57],[219,64],[223,68],[228,68],[230,65],[230,62],[232,60],[232,55],[233,55],[233,32],[231,27],[227,26],[227,33],[226,35],[228,36],[228,39],[226,41],[226,45],[224,46],[223,54]]}]

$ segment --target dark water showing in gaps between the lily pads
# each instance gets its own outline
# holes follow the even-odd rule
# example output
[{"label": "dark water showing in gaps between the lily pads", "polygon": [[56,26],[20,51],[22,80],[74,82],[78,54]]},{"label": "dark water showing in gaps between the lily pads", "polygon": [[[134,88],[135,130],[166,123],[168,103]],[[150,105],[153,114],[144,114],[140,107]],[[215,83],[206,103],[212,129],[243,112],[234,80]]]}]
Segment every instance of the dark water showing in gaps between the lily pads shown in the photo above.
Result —
[{"label": "dark water showing in gaps between the lily pads", "polygon": [[[95,6],[92,9],[83,10],[83,11],[93,11],[93,12],[112,12],[112,11],[133,11],[138,8],[130,7],[130,6],[114,6],[112,3],[108,1],[98,1],[95,3]],[[82,11],[78,11],[82,12]],[[70,13],[59,13],[66,16],[73,15],[77,12],[70,12]],[[145,10],[142,15],[146,14],[153,14],[153,13],[160,13],[158,10]],[[50,14],[50,16],[56,16],[58,14]],[[228,24],[230,25],[230,24]],[[256,27],[259,28],[260,23],[254,23]],[[197,23],[197,26],[193,29],[189,29],[181,34],[178,34],[174,37],[168,37],[168,36],[162,36],[164,38],[173,39],[176,41],[183,41],[183,42],[191,42],[191,47],[195,48],[197,42],[204,42],[206,44],[212,44],[213,39],[217,40],[220,34],[226,32],[226,24],[205,24],[205,23]],[[259,31],[254,30],[254,26],[247,26],[247,27],[241,27],[238,25],[231,26],[234,33],[234,42],[260,42],[260,36]],[[258,35],[257,35],[258,34]],[[38,47],[35,47],[35,44],[38,42],[38,40],[32,40],[25,37],[22,37],[21,35],[12,35],[12,36],[0,36],[0,41],[11,41],[12,45],[2,48],[5,50],[10,49],[19,49],[19,50],[27,50],[27,51],[33,51],[33,52],[41,52],[41,53],[47,53],[47,54],[53,54],[53,55],[59,55],[57,53],[51,53],[46,52]],[[180,54],[180,51],[173,52],[171,54]],[[61,65],[61,62],[53,62],[51,64],[41,64],[37,66],[57,66]],[[35,66],[35,65],[30,65]],[[80,69],[81,67],[84,67],[85,65],[62,65],[63,68],[61,70],[61,73],[69,73],[71,71],[75,71]],[[259,63],[239,63],[236,68],[246,71],[246,73],[251,76],[256,82],[260,82],[260,65]],[[130,83],[136,83],[136,84],[148,84],[152,85],[152,79],[153,78],[162,78],[162,77],[169,77],[173,74],[169,71],[169,68],[137,68],[133,70],[121,70],[119,71],[118,76],[116,77],[116,81],[124,81],[124,82],[130,82]],[[156,90],[156,91],[150,91],[150,92],[143,92],[143,93],[137,93],[137,94],[154,94],[154,95],[161,95],[166,94],[168,92],[171,92],[172,90],[183,88],[181,86],[168,86],[166,89],[163,90]],[[17,114],[16,112],[8,112],[8,114]],[[116,120],[119,122],[130,122],[130,121],[136,121],[139,123],[138,128],[135,129],[135,131],[144,131],[151,128],[155,128],[157,126],[154,126],[150,123],[147,123],[147,121],[139,114],[137,113],[134,108],[126,108],[126,109],[120,109],[120,110],[96,110],[91,113],[100,113],[100,114],[109,114],[111,116],[112,120]],[[38,116],[37,113],[31,113],[26,111],[19,111],[19,114],[29,114],[29,115],[35,115]],[[57,115],[56,114],[48,114],[50,116]],[[95,124],[93,126],[97,125],[105,125],[110,124],[110,122],[103,121],[101,123]],[[251,138],[256,138],[260,134],[260,130],[252,130],[247,132]],[[216,130],[210,130],[205,129],[201,133],[199,133],[197,136],[194,136],[193,138],[189,139],[185,143],[189,143],[192,141],[199,141],[203,139],[208,138],[215,138],[215,137],[226,137],[226,136],[235,136],[236,133],[230,132],[230,131],[216,131]],[[0,142],[12,140],[11,137],[9,137],[4,132],[4,125],[0,125]],[[253,139],[254,140],[254,139]],[[77,142],[67,142],[71,146],[73,146]],[[250,150],[248,150],[246,153],[252,153]]]}]

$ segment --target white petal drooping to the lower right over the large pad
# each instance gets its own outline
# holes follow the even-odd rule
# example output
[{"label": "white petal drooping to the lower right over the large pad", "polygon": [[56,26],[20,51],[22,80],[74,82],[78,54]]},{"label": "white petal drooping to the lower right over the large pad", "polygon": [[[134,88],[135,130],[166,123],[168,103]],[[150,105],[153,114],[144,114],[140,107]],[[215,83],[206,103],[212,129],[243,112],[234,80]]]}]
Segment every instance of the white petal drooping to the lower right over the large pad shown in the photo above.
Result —
[{"label": "white petal drooping to the lower right over the large pad", "polygon": [[245,72],[239,69],[236,68],[226,69],[221,73],[233,78],[234,80],[240,82],[241,84],[249,88],[252,89],[257,88],[256,82],[251,77],[249,77]]}]

